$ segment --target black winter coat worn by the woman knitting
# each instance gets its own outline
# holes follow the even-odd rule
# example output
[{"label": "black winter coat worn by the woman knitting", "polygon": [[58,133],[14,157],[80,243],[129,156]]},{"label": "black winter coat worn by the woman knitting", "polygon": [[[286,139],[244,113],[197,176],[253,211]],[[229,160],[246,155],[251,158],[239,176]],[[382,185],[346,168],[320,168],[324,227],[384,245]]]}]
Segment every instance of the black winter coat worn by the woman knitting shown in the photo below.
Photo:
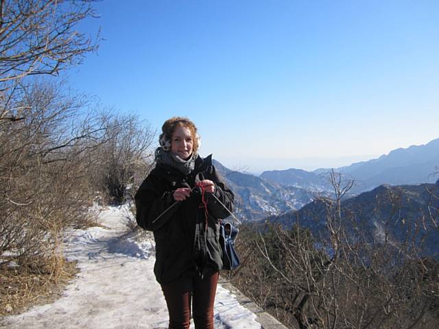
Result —
[{"label": "black winter coat worn by the woman knitting", "polygon": [[222,268],[219,247],[219,221],[228,217],[228,211],[211,193],[205,193],[207,229],[200,188],[183,202],[175,203],[172,193],[180,187],[193,188],[201,180],[215,183],[215,196],[233,212],[234,195],[224,184],[212,165],[211,156],[195,160],[195,169],[184,175],[178,169],[158,163],[143,181],[135,200],[137,223],[154,232],[156,263],[154,274],[161,284],[199,271],[208,275]]}]

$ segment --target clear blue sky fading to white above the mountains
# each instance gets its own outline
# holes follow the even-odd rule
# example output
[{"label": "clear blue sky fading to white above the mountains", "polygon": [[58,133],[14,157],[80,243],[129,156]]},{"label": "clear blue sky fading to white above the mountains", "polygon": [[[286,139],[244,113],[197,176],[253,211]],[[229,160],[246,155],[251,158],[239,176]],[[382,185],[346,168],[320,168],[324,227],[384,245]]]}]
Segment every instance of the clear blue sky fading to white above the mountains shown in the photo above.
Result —
[{"label": "clear blue sky fading to white above the mountains", "polygon": [[74,88],[231,168],[338,167],[439,138],[439,1],[95,3]]}]

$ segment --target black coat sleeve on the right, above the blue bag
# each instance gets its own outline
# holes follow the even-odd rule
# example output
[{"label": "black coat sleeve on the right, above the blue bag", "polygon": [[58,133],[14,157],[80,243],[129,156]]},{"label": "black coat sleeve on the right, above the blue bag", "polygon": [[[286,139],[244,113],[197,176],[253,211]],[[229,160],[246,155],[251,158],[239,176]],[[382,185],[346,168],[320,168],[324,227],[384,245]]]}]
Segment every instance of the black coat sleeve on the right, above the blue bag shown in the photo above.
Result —
[{"label": "black coat sleeve on the right, above the blue bag", "polygon": [[215,197],[209,195],[211,193],[207,193],[209,195],[207,208],[213,217],[216,217],[217,219],[224,219],[230,216],[230,212],[233,213],[235,195],[226,186],[224,180],[222,180],[213,166],[211,167],[211,180],[215,183],[214,195],[221,203],[219,203]]}]

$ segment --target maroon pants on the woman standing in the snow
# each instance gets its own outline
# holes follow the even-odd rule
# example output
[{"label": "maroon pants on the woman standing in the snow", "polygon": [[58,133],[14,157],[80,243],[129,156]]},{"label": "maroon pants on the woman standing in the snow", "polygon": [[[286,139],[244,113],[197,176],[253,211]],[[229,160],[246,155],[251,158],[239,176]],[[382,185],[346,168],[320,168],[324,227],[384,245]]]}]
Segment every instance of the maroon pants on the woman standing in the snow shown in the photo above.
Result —
[{"label": "maroon pants on the woman standing in the snow", "polygon": [[187,329],[191,319],[197,329],[213,329],[213,303],[217,291],[219,273],[200,278],[198,273],[162,284],[163,295],[169,312],[169,329]]}]

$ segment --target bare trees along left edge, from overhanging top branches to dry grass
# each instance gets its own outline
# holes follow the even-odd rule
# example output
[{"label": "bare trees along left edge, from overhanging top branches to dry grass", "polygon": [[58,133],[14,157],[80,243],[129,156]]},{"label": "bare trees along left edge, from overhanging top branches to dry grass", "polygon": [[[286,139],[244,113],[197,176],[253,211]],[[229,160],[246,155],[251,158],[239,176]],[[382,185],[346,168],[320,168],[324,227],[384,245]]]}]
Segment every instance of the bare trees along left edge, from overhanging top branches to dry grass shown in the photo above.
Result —
[{"label": "bare trees along left edge, from overhanging top branches to dry grass", "polygon": [[0,291],[0,313],[20,304],[10,292],[29,296],[27,280],[58,278],[62,232],[87,218],[88,154],[105,142],[106,122],[86,111],[86,97],[38,76],[97,49],[76,29],[91,16],[86,0],[0,0],[0,271],[16,283]]}]

